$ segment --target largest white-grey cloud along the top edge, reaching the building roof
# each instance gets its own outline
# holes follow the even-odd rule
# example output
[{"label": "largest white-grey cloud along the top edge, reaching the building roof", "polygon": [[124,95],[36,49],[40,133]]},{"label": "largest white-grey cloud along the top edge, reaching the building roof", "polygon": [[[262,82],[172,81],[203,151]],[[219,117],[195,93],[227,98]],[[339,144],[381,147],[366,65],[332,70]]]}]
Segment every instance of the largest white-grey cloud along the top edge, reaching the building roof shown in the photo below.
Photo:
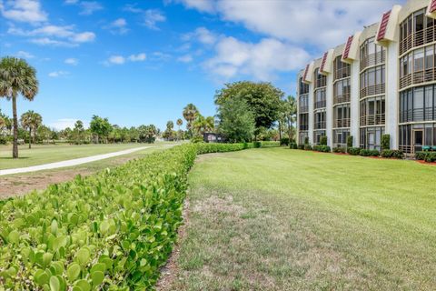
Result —
[{"label": "largest white-grey cloud along the top edge, reaching the building roof", "polygon": [[201,12],[217,13],[224,21],[292,44],[340,45],[348,35],[380,21],[381,14],[403,0],[177,0]]}]

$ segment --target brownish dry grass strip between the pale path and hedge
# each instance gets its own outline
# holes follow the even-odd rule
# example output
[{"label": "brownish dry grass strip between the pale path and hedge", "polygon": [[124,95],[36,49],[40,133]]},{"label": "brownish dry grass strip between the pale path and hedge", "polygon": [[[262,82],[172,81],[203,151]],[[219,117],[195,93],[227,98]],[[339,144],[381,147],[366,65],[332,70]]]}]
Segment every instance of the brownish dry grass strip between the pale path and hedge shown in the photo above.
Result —
[{"label": "brownish dry grass strip between the pale path and hedge", "polygon": [[22,196],[33,190],[44,190],[51,184],[72,180],[74,176],[88,176],[92,171],[84,169],[60,170],[57,172],[41,172],[41,174],[4,176],[0,179],[0,199]]}]

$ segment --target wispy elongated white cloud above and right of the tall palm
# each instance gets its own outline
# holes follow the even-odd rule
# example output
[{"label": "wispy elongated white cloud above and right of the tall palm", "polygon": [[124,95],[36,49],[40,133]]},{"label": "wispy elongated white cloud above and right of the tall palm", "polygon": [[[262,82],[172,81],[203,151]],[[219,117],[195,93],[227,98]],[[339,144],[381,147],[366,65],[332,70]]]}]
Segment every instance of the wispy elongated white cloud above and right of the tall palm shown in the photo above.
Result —
[{"label": "wispy elongated white cloud above and right of the tall palm", "polygon": [[44,25],[29,31],[10,26],[7,32],[11,35],[35,37],[30,41],[37,45],[76,46],[95,39],[95,34],[92,32],[74,32],[74,25]]}]

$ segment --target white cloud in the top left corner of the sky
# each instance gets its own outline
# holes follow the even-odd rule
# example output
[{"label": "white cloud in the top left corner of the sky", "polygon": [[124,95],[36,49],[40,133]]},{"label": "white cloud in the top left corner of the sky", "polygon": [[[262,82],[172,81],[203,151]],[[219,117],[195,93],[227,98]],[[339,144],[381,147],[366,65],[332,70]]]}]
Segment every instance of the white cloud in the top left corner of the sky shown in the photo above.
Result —
[{"label": "white cloud in the top left corner of the sky", "polygon": [[0,13],[6,18],[16,22],[25,22],[32,25],[45,22],[47,14],[41,9],[38,0],[0,0]]}]

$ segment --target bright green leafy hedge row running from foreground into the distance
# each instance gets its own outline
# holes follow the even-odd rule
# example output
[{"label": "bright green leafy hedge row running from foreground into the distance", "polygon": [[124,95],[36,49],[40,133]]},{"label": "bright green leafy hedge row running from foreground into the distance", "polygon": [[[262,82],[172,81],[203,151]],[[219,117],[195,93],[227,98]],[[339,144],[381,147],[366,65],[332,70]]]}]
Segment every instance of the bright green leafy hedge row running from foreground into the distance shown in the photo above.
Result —
[{"label": "bright green leafy hedge row running from foreground into the distance", "polygon": [[54,291],[154,286],[182,223],[195,156],[251,146],[175,146],[2,201],[0,286]]}]

